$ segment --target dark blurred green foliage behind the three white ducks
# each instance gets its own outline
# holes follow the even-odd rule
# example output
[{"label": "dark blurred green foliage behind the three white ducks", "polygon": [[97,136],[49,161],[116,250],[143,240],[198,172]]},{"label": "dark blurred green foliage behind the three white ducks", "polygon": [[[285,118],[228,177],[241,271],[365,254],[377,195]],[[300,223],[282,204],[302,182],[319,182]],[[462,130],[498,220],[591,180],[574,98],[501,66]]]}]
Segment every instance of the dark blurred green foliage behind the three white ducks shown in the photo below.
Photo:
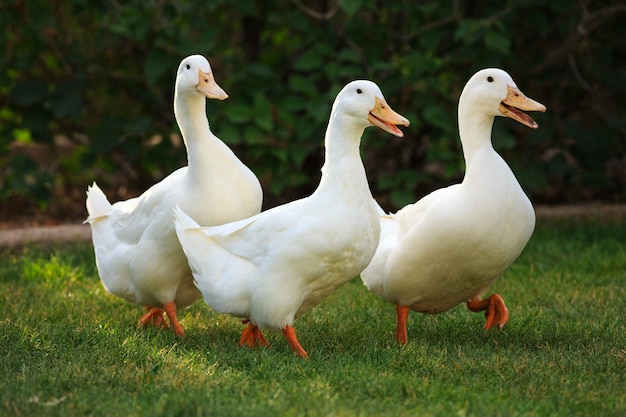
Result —
[{"label": "dark blurred green foliage behind the three white ducks", "polygon": [[[88,3],[88,4],[87,4]],[[626,197],[626,6],[619,0],[79,0],[0,6],[0,198],[45,206],[97,180],[139,192],[186,162],[172,110],[178,63],[205,55],[224,102],[212,130],[262,180],[266,206],[317,185],[332,101],[358,78],[411,121],[366,130],[387,209],[463,175],[456,106],[484,67],[548,108],[494,145],[536,201]],[[58,152],[59,143],[68,150]],[[27,152],[48,145],[49,163]],[[26,150],[26,151],[25,151]]]}]

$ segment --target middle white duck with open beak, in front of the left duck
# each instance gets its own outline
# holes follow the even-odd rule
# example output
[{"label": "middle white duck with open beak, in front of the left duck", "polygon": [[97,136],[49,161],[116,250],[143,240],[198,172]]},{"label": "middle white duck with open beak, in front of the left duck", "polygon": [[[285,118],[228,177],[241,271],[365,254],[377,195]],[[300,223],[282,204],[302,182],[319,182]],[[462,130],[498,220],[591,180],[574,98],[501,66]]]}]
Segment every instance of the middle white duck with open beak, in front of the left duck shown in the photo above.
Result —
[{"label": "middle white duck with open beak, in front of the left duck", "polygon": [[267,346],[261,329],[281,329],[292,350],[307,357],[294,319],[370,262],[380,224],[359,145],[372,124],[403,136],[395,125],[409,121],[389,108],[376,84],[353,81],[333,104],[322,178],[311,196],[218,227],[199,227],[175,210],[176,232],[205,302],[249,318],[241,345]]}]

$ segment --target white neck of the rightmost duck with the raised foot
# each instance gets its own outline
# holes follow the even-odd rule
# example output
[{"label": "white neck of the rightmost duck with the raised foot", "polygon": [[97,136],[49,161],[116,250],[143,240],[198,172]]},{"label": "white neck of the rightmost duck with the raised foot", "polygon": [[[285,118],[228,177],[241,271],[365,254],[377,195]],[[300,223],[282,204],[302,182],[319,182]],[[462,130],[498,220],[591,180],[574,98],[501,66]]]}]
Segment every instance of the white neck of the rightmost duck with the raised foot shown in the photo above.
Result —
[{"label": "white neck of the rightmost duck with the raised foot", "polygon": [[[483,155],[495,153],[491,143],[491,130],[493,116],[482,112],[463,111],[459,106],[459,136],[465,157],[465,180],[471,178],[474,171],[485,172],[486,170],[474,167],[477,159]],[[482,162],[478,165],[482,166]]]}]

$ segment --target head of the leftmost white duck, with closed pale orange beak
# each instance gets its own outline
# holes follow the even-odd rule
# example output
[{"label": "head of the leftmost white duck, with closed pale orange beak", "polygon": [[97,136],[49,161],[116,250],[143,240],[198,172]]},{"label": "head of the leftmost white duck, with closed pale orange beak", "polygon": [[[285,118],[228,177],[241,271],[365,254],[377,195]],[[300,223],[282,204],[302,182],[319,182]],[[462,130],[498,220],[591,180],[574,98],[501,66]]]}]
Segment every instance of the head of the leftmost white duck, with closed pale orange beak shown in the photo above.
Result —
[{"label": "head of the leftmost white duck, with closed pale orange beak", "polygon": [[191,55],[182,60],[176,76],[176,90],[200,93],[217,100],[228,98],[228,94],[215,82],[209,61],[202,55]]}]

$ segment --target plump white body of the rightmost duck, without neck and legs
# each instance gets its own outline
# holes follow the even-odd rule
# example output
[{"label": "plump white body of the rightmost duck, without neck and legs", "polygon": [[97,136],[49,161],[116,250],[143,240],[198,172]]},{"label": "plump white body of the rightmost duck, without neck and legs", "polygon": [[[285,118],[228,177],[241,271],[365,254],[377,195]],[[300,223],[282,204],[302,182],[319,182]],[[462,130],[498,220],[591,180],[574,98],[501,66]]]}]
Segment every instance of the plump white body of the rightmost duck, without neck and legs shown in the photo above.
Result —
[{"label": "plump white body of the rightmost duck, without neck and legs", "polygon": [[486,156],[481,166],[493,175],[476,186],[444,188],[382,220],[398,223],[382,271],[383,298],[440,313],[482,296],[517,259],[534,230],[534,210],[504,161]]}]

